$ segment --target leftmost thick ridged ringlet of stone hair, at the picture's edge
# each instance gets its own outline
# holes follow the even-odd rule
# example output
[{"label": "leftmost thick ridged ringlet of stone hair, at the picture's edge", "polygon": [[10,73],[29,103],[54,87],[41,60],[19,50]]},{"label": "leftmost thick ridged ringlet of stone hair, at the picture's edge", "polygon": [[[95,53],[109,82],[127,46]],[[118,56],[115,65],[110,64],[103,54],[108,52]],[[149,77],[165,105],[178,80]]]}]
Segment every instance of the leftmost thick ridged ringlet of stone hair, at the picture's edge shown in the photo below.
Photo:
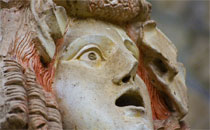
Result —
[{"label": "leftmost thick ridged ringlet of stone hair, at the picture's edge", "polygon": [[0,71],[0,129],[23,129],[28,121],[23,68],[10,58],[0,57]]}]

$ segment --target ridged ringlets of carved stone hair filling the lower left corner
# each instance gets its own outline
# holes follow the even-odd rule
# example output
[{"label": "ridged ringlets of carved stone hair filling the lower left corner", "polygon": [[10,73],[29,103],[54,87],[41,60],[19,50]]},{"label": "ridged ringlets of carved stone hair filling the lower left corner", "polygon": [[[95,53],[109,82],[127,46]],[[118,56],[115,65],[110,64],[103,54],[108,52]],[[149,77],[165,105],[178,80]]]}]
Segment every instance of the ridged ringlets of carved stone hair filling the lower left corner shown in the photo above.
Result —
[{"label": "ridged ringlets of carved stone hair filling the lower left corner", "polygon": [[55,98],[37,84],[34,72],[0,57],[0,129],[62,129]]}]

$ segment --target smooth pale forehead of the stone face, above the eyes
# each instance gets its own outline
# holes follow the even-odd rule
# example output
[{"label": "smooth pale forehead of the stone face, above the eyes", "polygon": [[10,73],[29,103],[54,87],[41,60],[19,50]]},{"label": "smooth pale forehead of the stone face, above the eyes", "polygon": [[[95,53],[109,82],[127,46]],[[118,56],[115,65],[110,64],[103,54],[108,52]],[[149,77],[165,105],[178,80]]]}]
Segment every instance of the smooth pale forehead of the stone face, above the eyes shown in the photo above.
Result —
[{"label": "smooth pale forehead of the stone face, above the eyes", "polygon": [[[63,43],[63,50],[66,51],[62,51],[61,55],[72,53],[81,46],[91,43],[97,43],[103,46],[102,48],[111,50],[116,44],[124,46],[125,41],[135,46],[122,28],[110,23],[93,19],[70,21]],[[74,47],[70,47],[73,44],[75,44]]]}]

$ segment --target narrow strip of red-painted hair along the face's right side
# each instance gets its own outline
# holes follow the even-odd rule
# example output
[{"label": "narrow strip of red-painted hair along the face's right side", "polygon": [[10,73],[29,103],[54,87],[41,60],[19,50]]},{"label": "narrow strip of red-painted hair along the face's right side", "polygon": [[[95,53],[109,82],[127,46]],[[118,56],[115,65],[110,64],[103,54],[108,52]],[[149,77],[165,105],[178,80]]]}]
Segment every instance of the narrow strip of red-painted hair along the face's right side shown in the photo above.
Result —
[{"label": "narrow strip of red-painted hair along the face's right side", "polygon": [[[139,32],[136,32],[135,27],[128,25],[127,26],[127,34],[128,36],[137,43],[137,39],[139,38]],[[145,85],[147,86],[147,90],[149,92],[150,100],[151,100],[151,108],[152,108],[152,116],[153,120],[165,120],[168,119],[171,115],[167,105],[165,104],[163,97],[160,92],[152,85],[149,75],[147,73],[146,68],[143,63],[143,54],[141,53],[141,48],[137,44],[139,48],[139,65],[137,74],[142,78]]]}]

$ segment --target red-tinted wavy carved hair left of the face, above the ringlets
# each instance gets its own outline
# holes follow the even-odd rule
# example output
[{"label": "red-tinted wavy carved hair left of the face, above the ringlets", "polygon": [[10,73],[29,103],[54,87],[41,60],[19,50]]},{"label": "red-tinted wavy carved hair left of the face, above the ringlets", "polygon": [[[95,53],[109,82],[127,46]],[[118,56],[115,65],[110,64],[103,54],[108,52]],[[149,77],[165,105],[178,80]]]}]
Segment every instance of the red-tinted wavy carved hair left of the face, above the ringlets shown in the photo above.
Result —
[{"label": "red-tinted wavy carved hair left of the face, above the ringlets", "polygon": [[55,58],[53,58],[47,67],[44,67],[40,61],[40,56],[35,48],[35,44],[35,41],[32,40],[32,32],[27,32],[24,36],[16,38],[11,55],[23,68],[34,70],[38,83],[46,91],[51,92],[55,74]]}]

